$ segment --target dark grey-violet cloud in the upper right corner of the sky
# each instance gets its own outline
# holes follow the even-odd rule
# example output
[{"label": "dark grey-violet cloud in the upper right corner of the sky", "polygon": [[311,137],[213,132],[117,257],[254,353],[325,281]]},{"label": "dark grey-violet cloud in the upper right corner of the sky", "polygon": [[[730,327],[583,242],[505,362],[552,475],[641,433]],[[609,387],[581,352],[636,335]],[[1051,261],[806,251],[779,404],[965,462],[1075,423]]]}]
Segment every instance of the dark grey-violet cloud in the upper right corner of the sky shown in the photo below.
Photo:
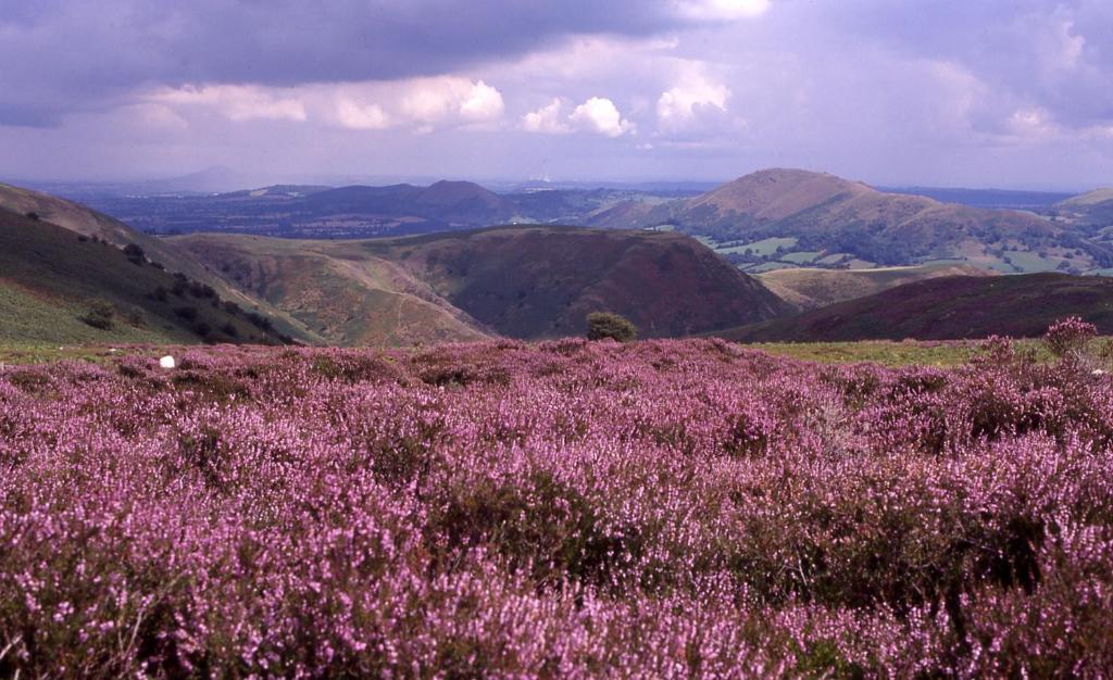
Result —
[{"label": "dark grey-violet cloud in the upper right corner of the sky", "polygon": [[1020,106],[1070,127],[1113,119],[1110,0],[844,0],[809,20],[846,40],[962,65]]}]

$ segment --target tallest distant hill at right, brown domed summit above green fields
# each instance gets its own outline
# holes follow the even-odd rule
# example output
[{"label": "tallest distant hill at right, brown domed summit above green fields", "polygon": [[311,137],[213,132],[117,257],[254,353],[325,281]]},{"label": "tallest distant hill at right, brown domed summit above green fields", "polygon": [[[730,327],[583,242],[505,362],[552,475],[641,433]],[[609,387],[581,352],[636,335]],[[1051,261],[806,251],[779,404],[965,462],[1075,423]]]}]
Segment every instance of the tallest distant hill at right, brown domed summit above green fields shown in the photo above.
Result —
[{"label": "tallest distant hill at right, brown domed summit above green fields", "polygon": [[825,258],[836,256],[861,266],[951,260],[1002,272],[1083,272],[1113,264],[1110,247],[1034,214],[888,194],[805,170],[754,173],[696,198],[658,206],[643,224],[672,225],[718,244],[732,243],[738,264],[747,258],[779,262],[754,248],[775,238],[786,239],[777,245],[777,255],[804,258],[786,266],[831,264]]}]

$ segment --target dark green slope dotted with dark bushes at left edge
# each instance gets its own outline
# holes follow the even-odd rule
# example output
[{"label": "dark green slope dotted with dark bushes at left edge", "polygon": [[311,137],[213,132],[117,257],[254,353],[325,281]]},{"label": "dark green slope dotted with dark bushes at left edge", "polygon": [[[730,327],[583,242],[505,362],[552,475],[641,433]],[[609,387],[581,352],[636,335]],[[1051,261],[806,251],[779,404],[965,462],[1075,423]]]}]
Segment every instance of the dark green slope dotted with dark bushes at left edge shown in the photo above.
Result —
[{"label": "dark green slope dotted with dark bushes at left edge", "polygon": [[0,341],[282,342],[269,318],[136,252],[7,209],[0,242]]}]

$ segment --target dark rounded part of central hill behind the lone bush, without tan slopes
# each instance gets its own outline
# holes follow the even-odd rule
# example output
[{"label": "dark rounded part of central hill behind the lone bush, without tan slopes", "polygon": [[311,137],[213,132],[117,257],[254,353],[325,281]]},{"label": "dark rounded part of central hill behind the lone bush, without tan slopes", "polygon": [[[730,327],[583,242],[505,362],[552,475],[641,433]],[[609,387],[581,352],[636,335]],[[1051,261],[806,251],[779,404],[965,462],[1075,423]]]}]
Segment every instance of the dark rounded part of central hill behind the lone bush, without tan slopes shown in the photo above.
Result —
[{"label": "dark rounded part of central hill behind the lone bush, without tan slopes", "polygon": [[632,321],[646,337],[759,321],[787,305],[696,240],[667,231],[499,227],[363,242],[456,307],[512,337],[583,333],[590,312]]}]

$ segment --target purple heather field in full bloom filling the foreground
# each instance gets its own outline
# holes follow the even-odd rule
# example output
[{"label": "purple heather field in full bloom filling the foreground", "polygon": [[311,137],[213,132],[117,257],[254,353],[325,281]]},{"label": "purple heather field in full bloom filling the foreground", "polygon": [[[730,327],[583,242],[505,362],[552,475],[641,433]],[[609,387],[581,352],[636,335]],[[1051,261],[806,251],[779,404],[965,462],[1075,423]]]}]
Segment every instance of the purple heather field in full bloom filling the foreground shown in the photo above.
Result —
[{"label": "purple heather field in full bloom filling the foreground", "polygon": [[703,339],[9,366],[0,676],[1106,677],[1087,334],[953,369]]}]

